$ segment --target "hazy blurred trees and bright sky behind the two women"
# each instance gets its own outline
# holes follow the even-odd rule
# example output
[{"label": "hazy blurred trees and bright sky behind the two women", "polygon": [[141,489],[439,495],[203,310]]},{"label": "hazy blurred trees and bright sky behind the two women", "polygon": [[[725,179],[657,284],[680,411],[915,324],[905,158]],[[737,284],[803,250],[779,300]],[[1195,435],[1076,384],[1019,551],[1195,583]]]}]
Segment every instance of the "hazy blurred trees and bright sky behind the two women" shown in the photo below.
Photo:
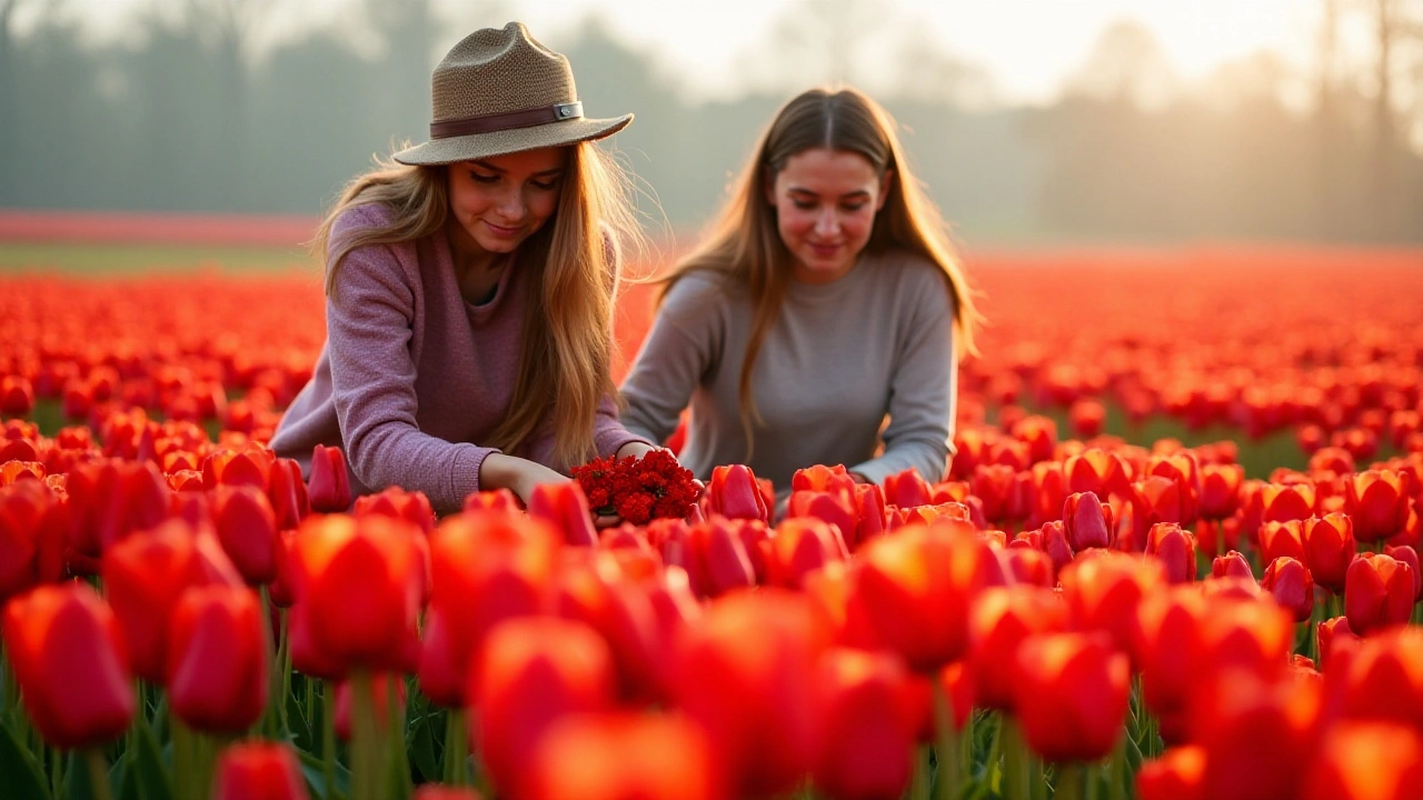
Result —
[{"label": "hazy blurred trees and bright sky behind the two women", "polygon": [[1423,241],[1423,0],[0,0],[0,208],[319,215],[511,19],[683,243],[824,81],[969,246]]}]

